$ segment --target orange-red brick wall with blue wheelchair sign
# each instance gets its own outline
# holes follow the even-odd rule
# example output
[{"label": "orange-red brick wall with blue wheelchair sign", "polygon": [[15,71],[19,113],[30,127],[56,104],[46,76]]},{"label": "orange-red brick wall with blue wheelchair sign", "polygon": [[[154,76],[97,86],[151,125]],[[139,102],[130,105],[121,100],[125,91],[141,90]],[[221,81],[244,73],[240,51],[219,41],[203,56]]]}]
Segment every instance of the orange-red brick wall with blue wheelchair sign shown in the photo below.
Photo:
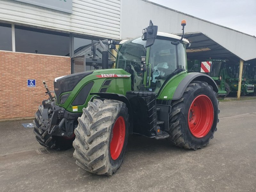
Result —
[{"label": "orange-red brick wall with blue wheelchair sign", "polygon": [[[69,57],[0,51],[0,119],[34,116],[48,98],[42,82],[53,91],[54,78],[70,70]],[[36,87],[28,87],[28,79],[36,79]]]}]

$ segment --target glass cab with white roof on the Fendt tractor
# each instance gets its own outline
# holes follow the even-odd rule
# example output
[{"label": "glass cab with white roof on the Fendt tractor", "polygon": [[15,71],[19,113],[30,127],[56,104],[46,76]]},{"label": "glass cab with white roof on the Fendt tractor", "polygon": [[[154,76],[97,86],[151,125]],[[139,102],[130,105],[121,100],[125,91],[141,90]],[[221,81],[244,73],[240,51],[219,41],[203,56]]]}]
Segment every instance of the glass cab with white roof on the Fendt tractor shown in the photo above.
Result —
[{"label": "glass cab with white roof on the Fendt tractor", "polygon": [[116,68],[132,75],[133,91],[141,90],[144,83],[145,90],[157,93],[166,79],[186,70],[188,43],[187,39],[180,41],[180,36],[163,32],[157,32],[154,44],[147,48],[141,38],[126,41],[119,48]]}]

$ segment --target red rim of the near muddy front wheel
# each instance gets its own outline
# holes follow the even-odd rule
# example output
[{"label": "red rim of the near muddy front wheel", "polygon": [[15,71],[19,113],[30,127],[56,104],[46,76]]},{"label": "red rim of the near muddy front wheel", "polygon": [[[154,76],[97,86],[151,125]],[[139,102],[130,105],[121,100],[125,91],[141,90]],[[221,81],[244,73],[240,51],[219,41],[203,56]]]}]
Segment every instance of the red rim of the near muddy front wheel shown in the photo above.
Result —
[{"label": "red rim of the near muddy front wheel", "polygon": [[116,123],[114,125],[112,131],[112,140],[110,142],[110,155],[113,160],[116,160],[124,146],[124,138],[125,138],[125,122],[124,117],[120,116],[116,119]]}]

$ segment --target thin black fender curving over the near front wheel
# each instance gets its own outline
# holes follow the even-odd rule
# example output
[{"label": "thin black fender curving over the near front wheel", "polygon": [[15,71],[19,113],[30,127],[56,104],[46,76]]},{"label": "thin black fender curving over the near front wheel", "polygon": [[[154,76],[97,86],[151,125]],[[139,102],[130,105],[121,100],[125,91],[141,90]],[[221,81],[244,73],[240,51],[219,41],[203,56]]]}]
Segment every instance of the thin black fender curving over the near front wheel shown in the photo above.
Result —
[{"label": "thin black fender curving over the near front wheel", "polygon": [[[132,105],[130,103],[130,101],[122,94],[117,94],[117,93],[90,93],[90,95],[99,95],[100,98],[103,99],[113,99],[113,100],[118,100],[118,101],[122,101],[126,104],[127,108],[128,108],[128,113],[129,113],[129,133],[132,134],[133,133],[133,110],[132,110]],[[93,97],[92,97],[93,99]]]}]

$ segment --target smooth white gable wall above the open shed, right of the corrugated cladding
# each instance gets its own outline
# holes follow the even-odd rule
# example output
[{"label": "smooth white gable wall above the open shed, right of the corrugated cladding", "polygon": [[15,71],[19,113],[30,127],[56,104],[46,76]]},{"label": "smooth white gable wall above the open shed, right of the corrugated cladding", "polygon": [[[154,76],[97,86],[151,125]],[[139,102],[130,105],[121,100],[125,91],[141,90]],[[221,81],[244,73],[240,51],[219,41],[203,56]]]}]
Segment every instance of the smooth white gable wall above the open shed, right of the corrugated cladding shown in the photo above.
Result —
[{"label": "smooth white gable wall above the open shed, right of the corrugated cladding", "polygon": [[180,34],[182,33],[180,23],[185,19],[187,21],[185,33],[202,32],[243,60],[256,58],[256,38],[253,36],[191,17],[146,0],[121,1],[121,39],[141,36],[142,29],[149,25],[150,19],[154,25],[158,26],[158,31]]}]

